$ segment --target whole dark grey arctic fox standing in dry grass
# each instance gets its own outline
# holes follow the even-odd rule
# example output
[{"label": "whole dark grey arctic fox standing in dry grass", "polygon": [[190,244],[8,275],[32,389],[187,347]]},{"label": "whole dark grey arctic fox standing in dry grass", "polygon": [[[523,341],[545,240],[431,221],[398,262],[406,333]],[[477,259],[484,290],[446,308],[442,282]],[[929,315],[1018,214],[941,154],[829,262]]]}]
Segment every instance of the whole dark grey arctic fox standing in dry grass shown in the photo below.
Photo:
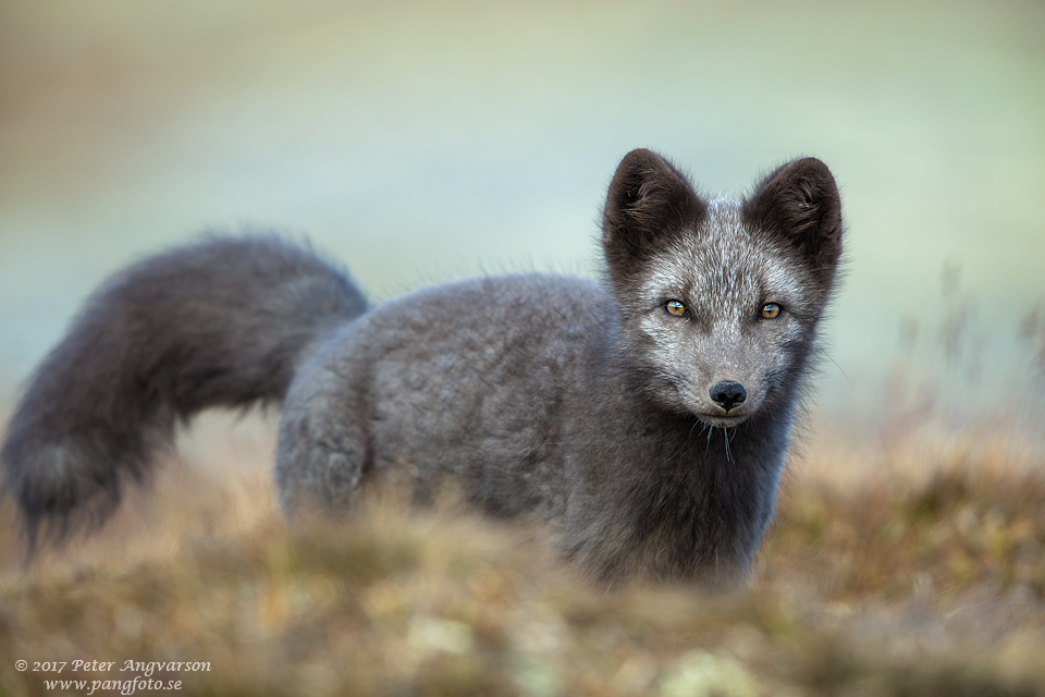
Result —
[{"label": "whole dark grey arctic fox standing in dry grass", "polygon": [[601,282],[480,278],[370,307],[276,237],[175,248],[106,283],[39,366],[4,489],[30,547],[61,538],[102,522],[179,421],[282,401],[288,517],[450,478],[546,523],[597,584],[734,583],[773,515],[841,235],[816,159],[709,201],[638,149],[610,184]]}]

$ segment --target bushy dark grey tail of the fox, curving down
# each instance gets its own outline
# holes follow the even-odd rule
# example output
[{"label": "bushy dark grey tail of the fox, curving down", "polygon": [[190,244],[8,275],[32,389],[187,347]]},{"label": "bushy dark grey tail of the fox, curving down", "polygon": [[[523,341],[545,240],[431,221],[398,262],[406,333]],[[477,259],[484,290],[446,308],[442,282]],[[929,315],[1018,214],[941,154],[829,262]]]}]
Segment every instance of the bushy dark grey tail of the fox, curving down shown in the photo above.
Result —
[{"label": "bushy dark grey tail of the fox, curving down", "polygon": [[37,368],[0,450],[28,548],[102,523],[174,427],[282,400],[297,364],[367,309],[345,273],[274,236],[214,237],[110,279]]}]

